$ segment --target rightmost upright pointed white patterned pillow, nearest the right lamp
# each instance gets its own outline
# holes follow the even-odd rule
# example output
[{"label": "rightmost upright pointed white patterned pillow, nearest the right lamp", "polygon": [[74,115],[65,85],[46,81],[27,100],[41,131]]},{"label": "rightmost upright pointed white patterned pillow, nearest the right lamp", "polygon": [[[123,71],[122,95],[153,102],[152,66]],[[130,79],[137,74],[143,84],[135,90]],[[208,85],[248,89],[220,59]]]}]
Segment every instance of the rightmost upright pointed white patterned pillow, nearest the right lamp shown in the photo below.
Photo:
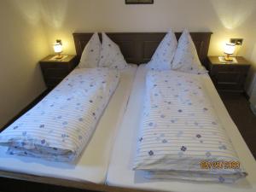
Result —
[{"label": "rightmost upright pointed white patterned pillow, nearest the right lamp", "polygon": [[201,65],[195,44],[187,30],[183,31],[178,40],[177,50],[172,61],[172,70],[195,74],[207,73],[205,67]]}]

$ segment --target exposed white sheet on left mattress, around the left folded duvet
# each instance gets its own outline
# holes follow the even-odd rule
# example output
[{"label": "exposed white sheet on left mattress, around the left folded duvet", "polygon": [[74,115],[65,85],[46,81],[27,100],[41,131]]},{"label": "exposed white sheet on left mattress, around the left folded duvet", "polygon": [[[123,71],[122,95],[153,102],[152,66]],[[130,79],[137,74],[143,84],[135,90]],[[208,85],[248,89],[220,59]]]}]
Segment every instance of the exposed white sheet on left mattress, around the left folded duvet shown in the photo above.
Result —
[{"label": "exposed white sheet on left mattress, around the left folded duvet", "polygon": [[0,170],[81,182],[105,183],[113,136],[125,113],[136,71],[135,65],[120,71],[119,85],[77,164],[9,155],[5,154],[7,148],[1,147]]}]

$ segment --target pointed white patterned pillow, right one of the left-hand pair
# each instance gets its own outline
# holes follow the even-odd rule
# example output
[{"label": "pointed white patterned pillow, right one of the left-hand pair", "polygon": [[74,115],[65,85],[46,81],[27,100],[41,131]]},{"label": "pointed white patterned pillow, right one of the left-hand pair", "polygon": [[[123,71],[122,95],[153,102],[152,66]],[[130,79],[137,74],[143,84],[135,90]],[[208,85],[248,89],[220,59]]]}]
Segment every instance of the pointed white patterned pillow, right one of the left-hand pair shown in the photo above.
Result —
[{"label": "pointed white patterned pillow, right one of the left-hand pair", "polygon": [[105,32],[102,32],[102,50],[99,67],[124,69],[126,66],[127,63],[119,49],[119,46],[114,44]]}]

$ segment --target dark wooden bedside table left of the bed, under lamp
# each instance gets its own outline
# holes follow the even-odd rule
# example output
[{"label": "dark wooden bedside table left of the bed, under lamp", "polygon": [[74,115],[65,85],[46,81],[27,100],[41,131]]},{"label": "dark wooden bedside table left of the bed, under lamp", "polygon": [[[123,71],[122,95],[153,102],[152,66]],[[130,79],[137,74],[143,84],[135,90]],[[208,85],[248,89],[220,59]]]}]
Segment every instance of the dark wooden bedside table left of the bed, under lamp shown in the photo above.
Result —
[{"label": "dark wooden bedside table left of the bed, under lamp", "polygon": [[55,55],[48,55],[39,61],[44,75],[44,82],[48,89],[53,89],[57,84],[77,66],[76,55],[67,55],[62,60],[52,60]]}]

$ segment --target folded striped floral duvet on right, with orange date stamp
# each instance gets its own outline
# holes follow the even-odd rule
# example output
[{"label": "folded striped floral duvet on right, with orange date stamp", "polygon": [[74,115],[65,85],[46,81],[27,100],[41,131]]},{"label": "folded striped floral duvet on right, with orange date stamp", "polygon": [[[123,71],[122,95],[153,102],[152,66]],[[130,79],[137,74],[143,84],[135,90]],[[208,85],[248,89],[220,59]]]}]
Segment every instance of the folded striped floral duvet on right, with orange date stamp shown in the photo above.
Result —
[{"label": "folded striped floral duvet on right, with orange date stamp", "polygon": [[199,75],[150,71],[146,81],[135,170],[152,179],[221,183],[247,175]]}]

